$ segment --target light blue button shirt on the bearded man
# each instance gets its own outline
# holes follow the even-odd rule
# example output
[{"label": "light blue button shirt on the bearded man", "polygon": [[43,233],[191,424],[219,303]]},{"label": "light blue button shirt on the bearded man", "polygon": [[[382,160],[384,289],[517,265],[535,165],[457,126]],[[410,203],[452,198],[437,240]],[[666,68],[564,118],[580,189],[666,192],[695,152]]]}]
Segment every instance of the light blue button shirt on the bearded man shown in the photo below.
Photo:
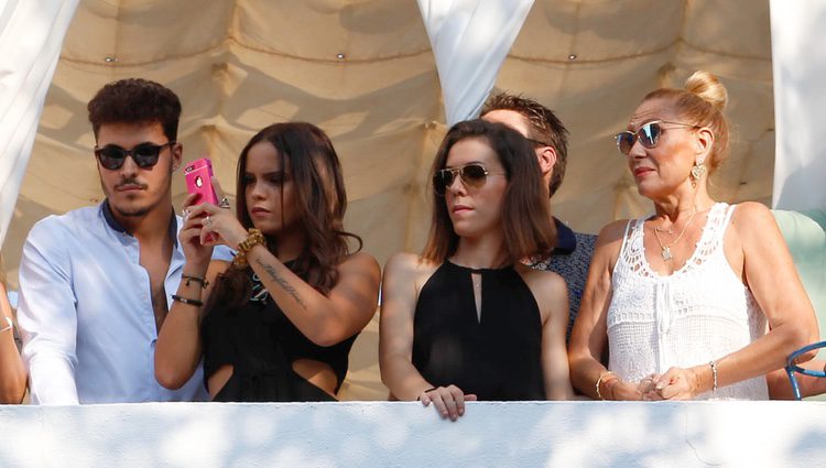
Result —
[{"label": "light blue button shirt on the bearded man", "polygon": [[[181,225],[175,217],[170,230],[176,233]],[[220,248],[215,258],[231,254]],[[184,260],[176,240],[164,280],[167,307]],[[149,273],[140,264],[138,239],[118,226],[106,202],[34,225],[19,276],[18,322],[32,403],[207,399],[200,366],[176,391],[155,380]]]}]

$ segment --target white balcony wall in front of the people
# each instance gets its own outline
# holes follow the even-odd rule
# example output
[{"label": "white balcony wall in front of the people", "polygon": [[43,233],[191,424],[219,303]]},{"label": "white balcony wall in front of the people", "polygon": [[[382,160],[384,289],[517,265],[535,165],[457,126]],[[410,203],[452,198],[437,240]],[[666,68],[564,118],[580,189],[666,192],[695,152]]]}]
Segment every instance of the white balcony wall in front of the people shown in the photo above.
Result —
[{"label": "white balcony wall in front of the people", "polygon": [[2,467],[826,466],[826,403],[0,406]]}]

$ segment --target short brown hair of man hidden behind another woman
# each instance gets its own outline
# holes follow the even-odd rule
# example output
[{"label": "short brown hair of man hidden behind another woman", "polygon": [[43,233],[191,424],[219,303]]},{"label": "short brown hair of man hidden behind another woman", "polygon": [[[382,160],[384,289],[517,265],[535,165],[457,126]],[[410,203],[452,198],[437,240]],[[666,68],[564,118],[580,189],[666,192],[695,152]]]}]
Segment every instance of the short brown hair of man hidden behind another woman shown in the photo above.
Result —
[{"label": "short brown hair of man hidden behind another woman", "polygon": [[568,160],[568,130],[551,109],[522,96],[498,94],[485,102],[481,115],[485,116],[493,110],[512,110],[520,113],[530,123],[528,138],[547,143],[556,151],[556,164],[554,164],[551,182],[547,184],[548,193],[553,196],[565,177]]}]

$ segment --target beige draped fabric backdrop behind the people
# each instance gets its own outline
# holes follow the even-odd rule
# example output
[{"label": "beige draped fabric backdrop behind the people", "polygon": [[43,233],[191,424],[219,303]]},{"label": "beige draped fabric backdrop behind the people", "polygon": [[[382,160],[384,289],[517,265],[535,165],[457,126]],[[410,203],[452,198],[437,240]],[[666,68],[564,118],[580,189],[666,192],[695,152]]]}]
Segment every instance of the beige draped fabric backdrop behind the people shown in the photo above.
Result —
[{"label": "beige draped fabric backdrop behind the people", "polygon": [[[716,194],[768,203],[774,154],[768,1],[535,2],[497,88],[537,98],[570,130],[557,216],[596,232],[650,210],[610,135],[646,91],[678,86],[697,68],[728,87],[736,132],[730,161],[713,179]],[[422,246],[426,172],[445,129],[415,1],[84,0],[3,247],[12,283],[36,220],[101,199],[85,106],[104,84],[130,76],[178,92],[185,157],[209,154],[231,193],[237,154],[257,129],[317,123],[343,159],[347,226],[365,238],[366,250],[383,261]],[[184,189],[176,177],[176,204]]]}]

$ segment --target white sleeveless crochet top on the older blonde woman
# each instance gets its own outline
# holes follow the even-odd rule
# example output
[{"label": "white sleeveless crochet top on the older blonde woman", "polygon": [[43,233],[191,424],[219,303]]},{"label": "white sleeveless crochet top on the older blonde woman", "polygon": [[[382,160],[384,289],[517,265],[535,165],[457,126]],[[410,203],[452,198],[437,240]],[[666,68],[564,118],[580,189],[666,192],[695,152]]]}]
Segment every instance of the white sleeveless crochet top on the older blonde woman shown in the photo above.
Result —
[{"label": "white sleeveless crochet top on the older blonde woman", "polygon": [[[722,203],[711,207],[694,254],[669,276],[653,271],[645,259],[644,219],[629,221],[607,317],[608,368],[621,379],[635,383],[671,367],[704,364],[765,333],[765,316],[724,253],[722,237],[733,210]],[[769,391],[760,377],[697,399],[768,400]]]}]

